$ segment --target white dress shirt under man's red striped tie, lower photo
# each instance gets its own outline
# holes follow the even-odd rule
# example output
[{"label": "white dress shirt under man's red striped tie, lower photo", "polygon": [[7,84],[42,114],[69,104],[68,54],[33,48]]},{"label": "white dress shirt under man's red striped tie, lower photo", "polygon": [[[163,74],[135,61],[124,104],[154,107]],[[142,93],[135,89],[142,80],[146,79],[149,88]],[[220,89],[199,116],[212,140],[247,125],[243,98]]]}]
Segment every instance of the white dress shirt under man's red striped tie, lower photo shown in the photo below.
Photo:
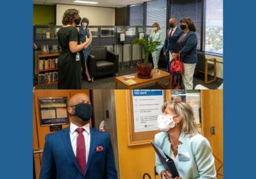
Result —
[{"label": "white dress shirt under man's red striped tie, lower photo", "polygon": [[[78,132],[76,131],[78,126],[76,126],[73,123],[70,123],[70,140],[71,140],[71,145],[72,149],[74,151],[75,156],[77,157],[77,137],[78,137]],[[89,150],[90,150],[90,124],[86,124],[85,126],[82,126],[83,129],[83,137],[85,137],[85,150],[86,150],[86,162],[89,156]]]}]

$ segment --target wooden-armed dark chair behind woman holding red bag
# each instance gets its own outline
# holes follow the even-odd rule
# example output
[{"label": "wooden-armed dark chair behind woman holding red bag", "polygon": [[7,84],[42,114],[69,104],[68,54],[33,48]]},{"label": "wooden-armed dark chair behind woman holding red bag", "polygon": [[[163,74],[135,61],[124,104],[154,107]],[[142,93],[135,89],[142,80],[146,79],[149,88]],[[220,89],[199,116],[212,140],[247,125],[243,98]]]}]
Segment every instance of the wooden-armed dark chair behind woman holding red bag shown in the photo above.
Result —
[{"label": "wooden-armed dark chair behind woman holding red bag", "polygon": [[[204,72],[204,83],[212,83],[213,81],[217,80],[217,65],[216,65],[216,59],[207,59],[205,57],[204,52],[197,52],[198,57],[198,63],[196,64],[196,70],[197,71],[203,71]],[[208,61],[213,61],[213,64],[208,63]],[[208,81],[208,71],[213,70],[213,79]]]}]

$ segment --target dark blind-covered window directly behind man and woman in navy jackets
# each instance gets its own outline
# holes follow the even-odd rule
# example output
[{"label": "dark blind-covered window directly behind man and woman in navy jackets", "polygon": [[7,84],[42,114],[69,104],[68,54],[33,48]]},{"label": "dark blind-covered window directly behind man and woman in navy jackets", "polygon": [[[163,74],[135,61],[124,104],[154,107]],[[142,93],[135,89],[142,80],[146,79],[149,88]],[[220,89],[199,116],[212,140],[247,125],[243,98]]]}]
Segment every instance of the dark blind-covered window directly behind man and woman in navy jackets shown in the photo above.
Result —
[{"label": "dark blind-covered window directly behind man and woman in navy jackets", "polygon": [[197,49],[201,50],[202,0],[171,0],[170,18],[180,25],[182,18],[191,18],[196,26]]}]

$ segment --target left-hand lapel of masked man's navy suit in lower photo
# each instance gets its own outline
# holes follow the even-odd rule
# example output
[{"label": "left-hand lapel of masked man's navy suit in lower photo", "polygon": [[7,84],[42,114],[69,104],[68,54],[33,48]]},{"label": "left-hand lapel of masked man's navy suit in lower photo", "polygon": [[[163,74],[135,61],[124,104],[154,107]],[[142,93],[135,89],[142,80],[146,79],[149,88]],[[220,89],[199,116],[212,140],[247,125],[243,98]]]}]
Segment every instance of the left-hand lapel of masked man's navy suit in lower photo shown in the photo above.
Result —
[{"label": "left-hand lapel of masked man's navy suit in lower photo", "polygon": [[74,151],[72,149],[72,145],[71,145],[71,141],[70,141],[70,127],[67,127],[66,129],[63,130],[63,133],[62,133],[62,140],[64,142],[64,146],[67,150],[67,153],[68,155],[70,156],[72,162],[74,163],[74,165],[77,167],[77,169],[79,170],[79,172],[81,174],[82,171],[78,165],[78,162],[77,162],[77,159],[75,158],[75,154],[74,154]]}]

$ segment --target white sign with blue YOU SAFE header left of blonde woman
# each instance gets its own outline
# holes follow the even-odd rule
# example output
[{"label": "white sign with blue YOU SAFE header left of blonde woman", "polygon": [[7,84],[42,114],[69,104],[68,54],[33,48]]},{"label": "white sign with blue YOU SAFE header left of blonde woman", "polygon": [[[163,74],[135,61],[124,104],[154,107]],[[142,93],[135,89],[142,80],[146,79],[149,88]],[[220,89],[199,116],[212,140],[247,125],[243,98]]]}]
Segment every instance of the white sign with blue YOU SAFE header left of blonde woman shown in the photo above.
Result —
[{"label": "white sign with blue YOU SAFE header left of blonde woman", "polygon": [[158,130],[157,116],[162,114],[165,98],[162,89],[133,89],[133,120],[135,133]]}]

